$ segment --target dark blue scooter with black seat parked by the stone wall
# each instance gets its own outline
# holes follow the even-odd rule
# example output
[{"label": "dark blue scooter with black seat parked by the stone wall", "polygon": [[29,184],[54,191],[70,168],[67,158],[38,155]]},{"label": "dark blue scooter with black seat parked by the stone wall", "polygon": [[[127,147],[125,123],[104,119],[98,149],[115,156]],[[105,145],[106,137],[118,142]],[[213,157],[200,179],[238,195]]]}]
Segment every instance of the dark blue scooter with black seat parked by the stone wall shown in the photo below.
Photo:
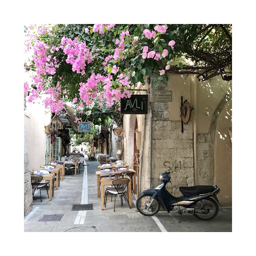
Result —
[{"label": "dark blue scooter with black seat parked by the stone wall", "polygon": [[[197,219],[208,221],[216,217],[219,211],[219,200],[217,194],[220,189],[214,186],[193,186],[180,187],[182,197],[174,197],[165,188],[166,184],[171,183],[170,172],[160,175],[160,181],[154,189],[146,189],[141,192],[137,199],[136,207],[145,216],[153,216],[158,213],[162,206],[167,213],[178,213],[180,220],[183,213],[191,213]],[[217,204],[218,203],[218,204]]]}]

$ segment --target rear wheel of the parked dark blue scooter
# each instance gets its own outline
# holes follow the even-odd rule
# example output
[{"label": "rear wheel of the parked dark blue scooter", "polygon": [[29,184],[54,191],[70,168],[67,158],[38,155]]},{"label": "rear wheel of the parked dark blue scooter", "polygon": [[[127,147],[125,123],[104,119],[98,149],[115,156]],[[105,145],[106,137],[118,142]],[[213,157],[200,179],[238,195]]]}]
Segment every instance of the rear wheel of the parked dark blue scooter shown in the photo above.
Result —
[{"label": "rear wheel of the parked dark blue scooter", "polygon": [[213,219],[219,212],[219,206],[215,200],[208,197],[196,203],[195,217],[201,220]]}]

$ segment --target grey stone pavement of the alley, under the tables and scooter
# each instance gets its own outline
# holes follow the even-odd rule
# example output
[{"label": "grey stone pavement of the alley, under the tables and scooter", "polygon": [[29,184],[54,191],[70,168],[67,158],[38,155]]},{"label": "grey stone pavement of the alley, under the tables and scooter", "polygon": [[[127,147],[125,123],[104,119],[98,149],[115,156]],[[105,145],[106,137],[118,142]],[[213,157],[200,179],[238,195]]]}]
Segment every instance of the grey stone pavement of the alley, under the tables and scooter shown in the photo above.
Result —
[{"label": "grey stone pavement of the alley, under the tables and scooter", "polygon": [[[125,201],[121,206],[117,198],[114,212],[114,202],[109,196],[106,209],[102,210],[95,176],[100,163],[89,161],[86,156],[85,164],[81,174],[64,176],[51,201],[42,190],[40,202],[38,191],[32,210],[24,217],[24,232],[232,232],[232,208],[228,207],[219,208],[212,221],[200,221],[184,213],[178,223],[178,214],[141,215],[135,206],[137,195],[133,194],[131,209]],[[73,204],[92,204],[93,209],[72,210]]]}]

